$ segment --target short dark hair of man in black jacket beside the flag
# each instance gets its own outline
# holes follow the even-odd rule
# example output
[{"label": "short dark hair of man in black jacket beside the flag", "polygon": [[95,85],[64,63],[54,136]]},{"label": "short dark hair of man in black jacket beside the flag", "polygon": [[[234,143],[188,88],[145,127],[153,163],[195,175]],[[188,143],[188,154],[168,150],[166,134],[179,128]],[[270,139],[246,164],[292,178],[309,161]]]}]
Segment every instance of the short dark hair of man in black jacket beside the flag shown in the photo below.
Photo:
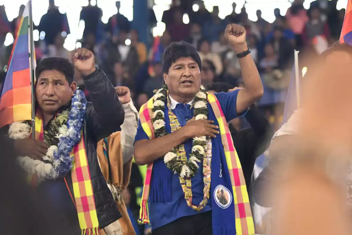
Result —
[{"label": "short dark hair of man in black jacket beside the flag", "polygon": [[66,58],[49,57],[40,61],[36,68],[37,79],[44,70],[57,70],[65,75],[68,84],[71,84],[73,82],[75,69],[73,65],[69,62],[69,60]]}]

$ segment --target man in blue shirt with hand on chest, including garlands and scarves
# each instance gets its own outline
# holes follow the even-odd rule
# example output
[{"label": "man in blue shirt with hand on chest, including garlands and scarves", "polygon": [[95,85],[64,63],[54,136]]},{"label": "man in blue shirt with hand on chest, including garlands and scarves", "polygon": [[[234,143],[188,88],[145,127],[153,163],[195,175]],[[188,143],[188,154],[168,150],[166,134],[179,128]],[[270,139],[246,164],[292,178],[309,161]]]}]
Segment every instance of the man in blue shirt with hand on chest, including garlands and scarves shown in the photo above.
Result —
[{"label": "man in blue shirt with hand on chest, including garlands and scarves", "polygon": [[[195,48],[172,43],[163,55],[165,86],[139,112],[134,159],[150,164],[139,222],[150,222],[154,235],[254,234],[243,172],[226,136],[227,122],[245,115],[263,95],[263,85],[244,27],[227,25],[225,37],[239,58],[246,88],[207,94]],[[243,214],[235,213],[239,205]]]}]

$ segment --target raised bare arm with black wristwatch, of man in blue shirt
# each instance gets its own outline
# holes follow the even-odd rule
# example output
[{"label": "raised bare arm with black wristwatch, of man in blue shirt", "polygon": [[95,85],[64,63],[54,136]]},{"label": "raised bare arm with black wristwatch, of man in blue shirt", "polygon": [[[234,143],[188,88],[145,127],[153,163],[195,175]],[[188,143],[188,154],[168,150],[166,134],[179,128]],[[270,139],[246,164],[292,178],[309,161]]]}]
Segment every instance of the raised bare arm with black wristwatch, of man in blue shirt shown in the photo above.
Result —
[{"label": "raised bare arm with black wristwatch, of man in blue shirt", "polygon": [[245,28],[241,25],[229,24],[225,29],[225,38],[231,44],[241,67],[245,88],[240,89],[236,101],[236,111],[241,113],[262,97],[264,88],[257,66],[250,56]]}]

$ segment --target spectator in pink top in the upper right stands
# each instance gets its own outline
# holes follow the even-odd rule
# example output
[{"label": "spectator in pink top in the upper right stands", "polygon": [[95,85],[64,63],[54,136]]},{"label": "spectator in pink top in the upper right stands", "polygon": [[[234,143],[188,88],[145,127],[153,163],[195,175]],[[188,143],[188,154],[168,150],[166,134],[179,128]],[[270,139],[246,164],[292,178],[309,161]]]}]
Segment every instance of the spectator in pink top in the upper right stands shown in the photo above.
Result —
[{"label": "spectator in pink top in the upper right stands", "polygon": [[302,33],[308,21],[307,11],[303,7],[303,0],[295,0],[291,7],[287,9],[286,19],[292,31],[295,33],[296,47],[303,47]]}]

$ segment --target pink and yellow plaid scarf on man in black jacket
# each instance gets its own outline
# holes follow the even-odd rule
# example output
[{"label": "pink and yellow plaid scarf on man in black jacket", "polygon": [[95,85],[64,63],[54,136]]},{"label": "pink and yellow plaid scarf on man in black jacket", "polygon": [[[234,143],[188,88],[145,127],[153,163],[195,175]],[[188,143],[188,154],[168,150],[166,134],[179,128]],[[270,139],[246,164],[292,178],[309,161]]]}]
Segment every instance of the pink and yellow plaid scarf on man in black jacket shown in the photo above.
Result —
[{"label": "pink and yellow plaid scarf on man in black jacket", "polygon": [[[36,139],[44,141],[43,120],[39,110],[37,111],[35,122]],[[86,148],[84,147],[82,131],[81,136],[81,141],[76,144],[71,151],[71,155],[74,156],[74,161],[72,162],[73,167],[71,169],[74,193],[74,198],[72,199],[74,200],[77,209],[78,221],[80,223],[82,235],[98,235],[98,215],[96,214],[95,210],[93,185],[92,179],[90,178]],[[35,181],[35,178],[35,176],[32,176],[32,182]],[[70,190],[69,193],[71,195]]]}]

